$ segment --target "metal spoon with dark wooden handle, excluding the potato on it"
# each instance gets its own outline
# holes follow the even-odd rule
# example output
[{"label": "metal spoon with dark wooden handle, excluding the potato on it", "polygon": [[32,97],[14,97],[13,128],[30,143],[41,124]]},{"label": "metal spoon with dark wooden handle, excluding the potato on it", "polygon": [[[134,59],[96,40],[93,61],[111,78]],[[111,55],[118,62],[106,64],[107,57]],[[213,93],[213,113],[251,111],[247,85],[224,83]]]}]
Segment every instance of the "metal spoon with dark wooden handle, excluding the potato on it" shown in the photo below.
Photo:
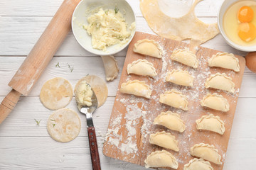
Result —
[{"label": "metal spoon with dark wooden handle, excluding the potato on it", "polygon": [[92,106],[83,106],[80,103],[78,103],[78,101],[77,101],[77,106],[80,113],[83,113],[86,115],[87,132],[88,132],[89,144],[90,144],[90,155],[92,159],[92,169],[100,170],[100,156],[97,148],[95,128],[92,122],[92,113],[97,108],[97,97],[95,95],[95,92],[92,90]]}]

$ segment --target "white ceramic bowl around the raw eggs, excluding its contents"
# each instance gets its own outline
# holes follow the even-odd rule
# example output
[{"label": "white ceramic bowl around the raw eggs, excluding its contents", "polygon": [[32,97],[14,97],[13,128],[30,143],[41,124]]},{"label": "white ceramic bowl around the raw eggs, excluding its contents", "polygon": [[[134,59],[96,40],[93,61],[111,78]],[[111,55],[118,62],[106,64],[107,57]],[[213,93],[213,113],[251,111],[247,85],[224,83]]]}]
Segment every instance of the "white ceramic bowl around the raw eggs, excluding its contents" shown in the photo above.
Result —
[{"label": "white ceramic bowl around the raw eggs, excluding its contents", "polygon": [[256,51],[256,45],[253,46],[242,46],[242,45],[238,45],[235,44],[235,42],[231,41],[228,36],[225,34],[225,30],[223,28],[223,16],[225,14],[225,11],[228,10],[228,8],[234,4],[236,1],[239,0],[225,0],[222,4],[222,6],[220,7],[220,10],[218,11],[218,28],[220,29],[220,33],[221,35],[223,35],[223,38],[225,39],[225,41],[231,46],[234,47],[235,49],[241,50],[241,51],[245,51],[245,52],[252,52],[252,51]]}]

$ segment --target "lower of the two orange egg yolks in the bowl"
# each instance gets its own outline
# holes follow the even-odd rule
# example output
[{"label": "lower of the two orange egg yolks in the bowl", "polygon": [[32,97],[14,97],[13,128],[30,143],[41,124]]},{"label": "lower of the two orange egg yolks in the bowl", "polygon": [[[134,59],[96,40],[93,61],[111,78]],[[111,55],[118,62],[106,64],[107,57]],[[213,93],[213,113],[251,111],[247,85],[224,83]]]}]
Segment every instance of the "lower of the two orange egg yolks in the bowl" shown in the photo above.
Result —
[{"label": "lower of the two orange egg yolks in the bowl", "polygon": [[256,38],[256,27],[253,23],[240,23],[238,26],[238,35],[245,42],[249,42]]}]

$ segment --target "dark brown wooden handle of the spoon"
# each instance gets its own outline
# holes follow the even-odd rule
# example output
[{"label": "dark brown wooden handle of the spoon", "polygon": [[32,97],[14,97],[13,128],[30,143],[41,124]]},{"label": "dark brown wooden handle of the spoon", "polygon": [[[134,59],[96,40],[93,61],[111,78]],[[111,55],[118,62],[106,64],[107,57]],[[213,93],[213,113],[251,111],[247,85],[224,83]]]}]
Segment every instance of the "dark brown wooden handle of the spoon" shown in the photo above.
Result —
[{"label": "dark brown wooden handle of the spoon", "polygon": [[93,126],[88,127],[87,131],[90,144],[90,154],[92,159],[92,169],[100,170],[100,155],[97,148],[95,128]]}]

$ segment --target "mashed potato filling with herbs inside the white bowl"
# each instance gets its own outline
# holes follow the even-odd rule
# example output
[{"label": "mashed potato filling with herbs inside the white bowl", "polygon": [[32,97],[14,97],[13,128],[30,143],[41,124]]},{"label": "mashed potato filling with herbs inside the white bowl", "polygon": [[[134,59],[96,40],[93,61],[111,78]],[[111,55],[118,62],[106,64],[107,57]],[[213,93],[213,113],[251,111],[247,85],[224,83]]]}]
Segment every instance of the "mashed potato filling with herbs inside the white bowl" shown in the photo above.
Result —
[{"label": "mashed potato filling with herbs inside the white bowl", "polygon": [[100,8],[87,21],[89,25],[82,27],[92,36],[92,47],[104,51],[107,46],[125,44],[135,28],[135,23],[132,23],[129,30],[127,29],[127,23],[117,8],[105,11]]}]

